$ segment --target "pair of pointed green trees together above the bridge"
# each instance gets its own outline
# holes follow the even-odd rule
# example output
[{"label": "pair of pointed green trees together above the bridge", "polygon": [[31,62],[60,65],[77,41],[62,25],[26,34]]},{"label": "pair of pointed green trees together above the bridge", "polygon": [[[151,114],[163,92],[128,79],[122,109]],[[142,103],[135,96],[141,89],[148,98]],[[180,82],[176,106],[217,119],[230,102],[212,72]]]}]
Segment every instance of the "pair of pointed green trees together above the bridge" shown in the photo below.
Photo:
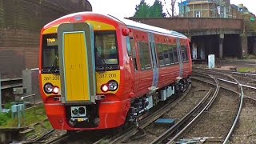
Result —
[{"label": "pair of pointed green trees together above the bridge", "polygon": [[149,6],[145,0],[141,0],[141,2],[135,7],[135,18],[164,18],[166,14],[162,12],[162,2],[159,0],[155,0],[152,6]]}]

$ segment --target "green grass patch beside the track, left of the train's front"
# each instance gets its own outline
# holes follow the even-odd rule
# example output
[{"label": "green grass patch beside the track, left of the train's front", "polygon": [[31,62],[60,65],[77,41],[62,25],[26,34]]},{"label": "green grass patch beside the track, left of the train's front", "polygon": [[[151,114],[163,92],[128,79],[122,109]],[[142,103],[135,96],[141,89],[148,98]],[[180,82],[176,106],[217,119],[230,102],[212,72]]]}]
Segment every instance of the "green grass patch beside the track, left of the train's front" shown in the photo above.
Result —
[{"label": "green grass patch beside the track, left of the train's front", "polygon": [[[46,113],[43,106],[37,106],[33,109],[26,110],[21,117],[21,127],[30,126],[36,122],[42,122],[46,119]],[[11,111],[7,114],[0,114],[0,127],[17,127],[18,118],[11,118]]]}]

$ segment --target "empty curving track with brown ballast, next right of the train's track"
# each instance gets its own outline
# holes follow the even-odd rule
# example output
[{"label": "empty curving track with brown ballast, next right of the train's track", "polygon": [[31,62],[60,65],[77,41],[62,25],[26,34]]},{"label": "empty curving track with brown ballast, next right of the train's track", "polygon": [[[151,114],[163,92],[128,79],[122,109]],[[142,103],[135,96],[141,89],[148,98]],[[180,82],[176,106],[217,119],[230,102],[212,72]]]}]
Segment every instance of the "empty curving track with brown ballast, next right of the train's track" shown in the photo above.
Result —
[{"label": "empty curving track with brown ballast, next right of the train's track", "polygon": [[[209,78],[214,77],[209,75],[208,79]],[[210,140],[211,142],[229,142],[230,136],[234,131],[234,126],[236,126],[238,122],[243,102],[243,90],[241,84],[232,76],[229,76],[229,78],[234,79],[237,83],[240,93],[229,89],[227,89],[229,92],[226,92],[227,90],[223,89],[219,90],[219,80],[218,78],[214,78],[214,85],[217,86],[217,88],[207,105],[202,109],[198,109],[200,111],[197,112],[194,118],[186,118],[190,119],[190,122],[183,122],[188,124],[183,126],[182,129],[181,127],[175,128],[173,126],[173,129],[166,130],[164,134],[151,143],[209,142]],[[230,97],[230,95],[233,94],[238,95],[239,102],[237,98]],[[211,106],[212,104],[213,106]],[[234,109],[234,107],[236,107],[236,109]],[[226,110],[223,110],[225,108]],[[200,118],[200,120],[198,120],[198,118]],[[197,122],[197,124],[195,124],[195,122]],[[178,134],[173,134],[174,131],[177,130]]]}]

